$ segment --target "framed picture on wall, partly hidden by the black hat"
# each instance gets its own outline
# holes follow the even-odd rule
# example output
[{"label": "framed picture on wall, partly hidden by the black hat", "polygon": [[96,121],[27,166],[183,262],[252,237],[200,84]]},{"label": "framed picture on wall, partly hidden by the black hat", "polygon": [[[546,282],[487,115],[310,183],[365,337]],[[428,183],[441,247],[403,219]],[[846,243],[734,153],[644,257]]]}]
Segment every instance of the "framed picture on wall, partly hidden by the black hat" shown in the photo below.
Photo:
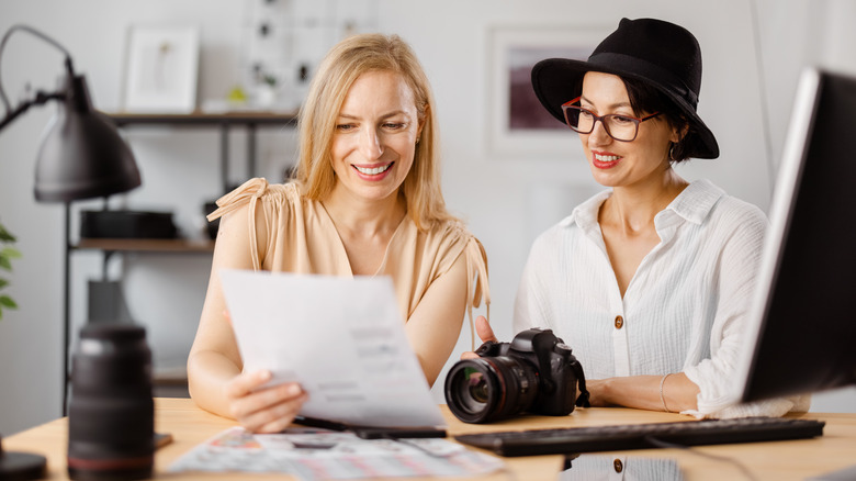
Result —
[{"label": "framed picture on wall, partly hidden by the black hat", "polygon": [[[487,152],[495,157],[582,156],[574,134],[532,91],[532,66],[544,58],[586,59],[609,26],[496,26],[488,29]],[[568,99],[571,100],[571,99]]]}]

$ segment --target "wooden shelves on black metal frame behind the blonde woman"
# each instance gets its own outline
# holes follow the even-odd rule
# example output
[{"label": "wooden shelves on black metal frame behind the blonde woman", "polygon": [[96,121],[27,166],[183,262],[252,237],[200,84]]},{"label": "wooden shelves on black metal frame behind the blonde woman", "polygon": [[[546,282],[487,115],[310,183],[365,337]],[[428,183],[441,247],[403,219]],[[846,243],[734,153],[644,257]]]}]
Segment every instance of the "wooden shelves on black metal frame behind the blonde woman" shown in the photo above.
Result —
[{"label": "wooden shelves on black metal frame behind the blonde woman", "polygon": [[[137,114],[137,113],[106,113],[108,118],[120,128],[144,126],[178,126],[178,127],[206,127],[219,130],[219,169],[221,188],[228,190],[229,166],[229,132],[232,127],[245,127],[247,131],[247,158],[246,165],[250,176],[256,175],[256,134],[259,127],[293,128],[296,126],[295,112],[228,112],[228,113],[192,113],[192,114]],[[132,146],[133,148],[133,146]],[[145,187],[145,186],[144,186]],[[65,413],[68,404],[69,382],[69,350],[71,326],[70,320],[70,257],[75,251],[98,250],[103,253],[103,271],[106,278],[106,267],[110,258],[115,254],[176,254],[176,255],[210,255],[214,250],[213,240],[190,239],[160,239],[160,238],[81,238],[77,244],[71,244],[69,232],[70,204],[65,209],[65,372],[66,385],[64,390],[63,410]],[[187,378],[171,373],[165,379],[156,379],[156,383],[167,387],[176,387],[181,383],[187,385]]]}]

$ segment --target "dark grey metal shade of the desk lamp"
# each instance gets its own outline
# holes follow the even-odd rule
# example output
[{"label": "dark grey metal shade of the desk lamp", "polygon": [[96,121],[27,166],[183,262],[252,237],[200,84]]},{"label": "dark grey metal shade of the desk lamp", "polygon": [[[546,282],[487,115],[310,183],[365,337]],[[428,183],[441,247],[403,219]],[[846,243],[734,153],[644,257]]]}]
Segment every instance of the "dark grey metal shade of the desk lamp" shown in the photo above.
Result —
[{"label": "dark grey metal shade of the desk lamp", "polygon": [[92,107],[86,79],[68,76],[64,94],[38,150],[36,200],[69,202],[139,186],[131,148],[110,119]]}]

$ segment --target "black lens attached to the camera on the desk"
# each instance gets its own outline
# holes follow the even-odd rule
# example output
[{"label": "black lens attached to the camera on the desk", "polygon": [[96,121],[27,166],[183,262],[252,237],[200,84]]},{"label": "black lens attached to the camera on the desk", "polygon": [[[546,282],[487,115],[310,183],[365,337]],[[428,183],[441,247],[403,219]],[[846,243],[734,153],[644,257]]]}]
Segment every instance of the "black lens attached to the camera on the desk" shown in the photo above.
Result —
[{"label": "black lens attached to the camera on the desk", "polygon": [[536,369],[507,356],[458,361],[446,378],[446,402],[464,423],[488,423],[529,409],[538,394]]}]

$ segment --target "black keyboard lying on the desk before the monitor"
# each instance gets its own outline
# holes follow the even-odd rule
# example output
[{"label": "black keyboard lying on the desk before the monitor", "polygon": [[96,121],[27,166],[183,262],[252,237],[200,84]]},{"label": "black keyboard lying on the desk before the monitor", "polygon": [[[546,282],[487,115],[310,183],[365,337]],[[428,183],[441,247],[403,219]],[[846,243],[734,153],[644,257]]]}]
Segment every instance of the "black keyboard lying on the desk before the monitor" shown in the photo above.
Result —
[{"label": "black keyboard lying on the desk before the monitor", "polygon": [[647,449],[664,446],[720,445],[823,435],[824,422],[782,417],[743,417],[675,423],[531,429],[455,436],[458,441],[500,456],[538,456]]}]

